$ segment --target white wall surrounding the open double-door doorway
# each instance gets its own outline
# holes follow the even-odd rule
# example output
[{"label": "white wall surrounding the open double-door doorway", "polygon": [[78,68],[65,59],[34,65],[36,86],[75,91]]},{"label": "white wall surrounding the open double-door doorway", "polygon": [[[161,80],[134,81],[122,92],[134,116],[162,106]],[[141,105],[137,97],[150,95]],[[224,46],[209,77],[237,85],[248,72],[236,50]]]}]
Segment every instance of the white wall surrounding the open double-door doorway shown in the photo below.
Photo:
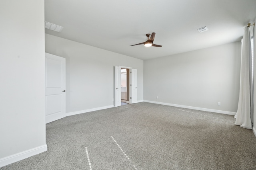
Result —
[{"label": "white wall surrounding the open double-door doorway", "polygon": [[114,66],[137,69],[137,99],[143,100],[143,61],[53,35],[46,53],[66,58],[66,112],[113,106]]}]

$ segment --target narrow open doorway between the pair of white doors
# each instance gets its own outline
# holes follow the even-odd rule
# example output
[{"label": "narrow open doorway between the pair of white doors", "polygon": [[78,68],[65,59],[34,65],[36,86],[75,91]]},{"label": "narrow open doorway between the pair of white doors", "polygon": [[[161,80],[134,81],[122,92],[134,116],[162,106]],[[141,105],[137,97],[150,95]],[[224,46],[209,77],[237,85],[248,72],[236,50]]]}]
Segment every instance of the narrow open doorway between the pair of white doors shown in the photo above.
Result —
[{"label": "narrow open doorway between the pair of white doors", "polygon": [[121,68],[121,105],[129,103],[129,69]]}]

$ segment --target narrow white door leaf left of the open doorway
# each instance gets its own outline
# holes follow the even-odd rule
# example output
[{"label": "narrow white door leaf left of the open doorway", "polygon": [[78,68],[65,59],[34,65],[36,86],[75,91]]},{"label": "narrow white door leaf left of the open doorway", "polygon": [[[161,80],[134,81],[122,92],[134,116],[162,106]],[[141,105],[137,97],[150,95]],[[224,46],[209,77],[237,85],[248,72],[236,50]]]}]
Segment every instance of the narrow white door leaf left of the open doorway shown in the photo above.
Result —
[{"label": "narrow white door leaf left of the open doorway", "polygon": [[121,106],[121,67],[115,66],[115,107]]}]

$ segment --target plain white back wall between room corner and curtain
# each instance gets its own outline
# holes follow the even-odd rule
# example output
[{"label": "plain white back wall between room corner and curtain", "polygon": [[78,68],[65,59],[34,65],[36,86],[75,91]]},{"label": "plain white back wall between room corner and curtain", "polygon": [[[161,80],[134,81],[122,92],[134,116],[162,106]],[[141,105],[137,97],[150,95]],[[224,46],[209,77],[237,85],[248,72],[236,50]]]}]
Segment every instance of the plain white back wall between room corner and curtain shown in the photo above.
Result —
[{"label": "plain white back wall between room corner and curtain", "polygon": [[240,54],[235,42],[146,60],[144,100],[236,112]]}]

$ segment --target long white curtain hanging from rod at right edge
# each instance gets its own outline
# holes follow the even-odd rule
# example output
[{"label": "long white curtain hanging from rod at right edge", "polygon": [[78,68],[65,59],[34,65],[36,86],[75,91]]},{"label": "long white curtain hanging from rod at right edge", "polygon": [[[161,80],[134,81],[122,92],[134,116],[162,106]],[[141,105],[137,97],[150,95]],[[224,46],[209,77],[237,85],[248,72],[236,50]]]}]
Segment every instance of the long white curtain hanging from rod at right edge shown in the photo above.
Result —
[{"label": "long white curtain hanging from rod at right edge", "polygon": [[252,129],[253,85],[252,85],[252,48],[248,27],[244,27],[242,40],[240,93],[235,125]]}]

